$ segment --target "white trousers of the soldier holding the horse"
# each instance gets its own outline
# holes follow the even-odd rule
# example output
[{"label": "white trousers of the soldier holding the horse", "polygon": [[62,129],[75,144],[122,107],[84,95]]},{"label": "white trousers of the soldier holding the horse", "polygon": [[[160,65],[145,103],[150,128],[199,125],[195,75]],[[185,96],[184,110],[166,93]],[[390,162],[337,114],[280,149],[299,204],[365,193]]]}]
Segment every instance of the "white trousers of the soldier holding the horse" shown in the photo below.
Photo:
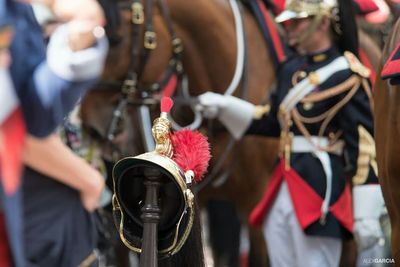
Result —
[{"label": "white trousers of the soldier holding the horse", "polygon": [[303,232],[285,182],[264,221],[263,232],[272,267],[339,266],[342,240]]}]

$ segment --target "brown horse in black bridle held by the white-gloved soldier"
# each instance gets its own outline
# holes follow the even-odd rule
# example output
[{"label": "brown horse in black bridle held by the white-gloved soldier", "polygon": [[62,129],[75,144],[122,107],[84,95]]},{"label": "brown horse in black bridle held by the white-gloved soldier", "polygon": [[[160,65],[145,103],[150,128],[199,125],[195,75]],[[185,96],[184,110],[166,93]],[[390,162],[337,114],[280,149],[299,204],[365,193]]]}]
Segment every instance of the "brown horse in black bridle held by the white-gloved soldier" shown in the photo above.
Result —
[{"label": "brown horse in black bridle held by the white-gloved soldier", "polygon": [[[146,148],[147,141],[143,141],[146,134],[141,127],[146,128],[146,123],[151,125],[153,115],[158,114],[158,100],[167,94],[166,90],[172,91],[174,84],[178,86],[172,113],[180,125],[191,124],[195,119],[195,96],[206,91],[226,93],[233,88],[232,94],[255,104],[268,99],[275,80],[274,67],[256,21],[246,8],[239,7],[245,32],[242,52],[246,57],[239,83],[235,85],[232,80],[237,72],[239,41],[229,3],[217,0],[162,3],[163,0],[109,1],[112,8],[106,8],[106,13],[114,10],[119,19],[107,27],[111,48],[101,81],[82,101],[84,124],[102,140],[105,155],[115,150],[118,157],[151,150]],[[146,14],[149,6],[152,12]],[[168,16],[163,7],[168,8]],[[151,27],[146,26],[150,24]],[[150,114],[147,121],[143,112]],[[214,180],[218,183],[223,181],[219,177],[229,176],[229,181],[220,187],[208,186],[200,196],[233,201],[246,222],[262,196],[277,154],[277,141],[246,137],[232,142],[216,121],[204,121],[204,125],[203,131],[211,141],[213,164],[221,166],[211,171]],[[151,134],[147,137],[151,138]],[[265,253],[262,246],[258,248],[260,254]]]}]

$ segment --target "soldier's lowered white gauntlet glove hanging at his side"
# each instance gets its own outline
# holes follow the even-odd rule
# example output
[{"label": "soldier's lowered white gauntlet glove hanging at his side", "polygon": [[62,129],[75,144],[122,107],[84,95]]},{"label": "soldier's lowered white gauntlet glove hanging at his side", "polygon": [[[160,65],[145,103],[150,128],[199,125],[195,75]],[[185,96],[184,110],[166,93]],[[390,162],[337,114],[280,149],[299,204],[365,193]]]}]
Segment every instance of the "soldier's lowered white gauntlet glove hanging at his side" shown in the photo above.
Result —
[{"label": "soldier's lowered white gauntlet glove hanging at his side", "polygon": [[365,250],[383,237],[379,218],[384,210],[379,185],[359,185],[353,188],[354,238],[358,250]]}]

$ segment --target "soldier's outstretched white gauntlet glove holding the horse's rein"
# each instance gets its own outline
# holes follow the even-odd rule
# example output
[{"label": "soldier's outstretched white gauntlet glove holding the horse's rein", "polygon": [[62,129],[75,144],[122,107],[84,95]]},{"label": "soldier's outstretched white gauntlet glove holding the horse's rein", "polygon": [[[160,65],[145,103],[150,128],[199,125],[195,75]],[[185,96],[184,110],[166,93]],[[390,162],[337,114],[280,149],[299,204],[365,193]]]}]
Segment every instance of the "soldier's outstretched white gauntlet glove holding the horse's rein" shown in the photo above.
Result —
[{"label": "soldier's outstretched white gauntlet glove holding the horse's rein", "polygon": [[207,92],[198,100],[204,117],[218,117],[235,139],[243,136],[253,120],[255,106],[237,97]]}]

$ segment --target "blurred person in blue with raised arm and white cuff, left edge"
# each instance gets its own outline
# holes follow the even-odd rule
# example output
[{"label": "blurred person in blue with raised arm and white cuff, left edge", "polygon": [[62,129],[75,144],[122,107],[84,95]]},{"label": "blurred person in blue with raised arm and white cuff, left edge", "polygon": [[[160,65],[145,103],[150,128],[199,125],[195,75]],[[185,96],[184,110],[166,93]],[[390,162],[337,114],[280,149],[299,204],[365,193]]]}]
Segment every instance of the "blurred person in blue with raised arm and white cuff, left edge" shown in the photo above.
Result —
[{"label": "blurred person in blue with raised arm and white cuff, left edge", "polygon": [[[54,131],[100,75],[104,15],[94,0],[47,0],[60,27],[46,50],[29,1],[0,0],[0,265],[25,266],[18,162],[25,129]],[[4,217],[3,217],[4,216]]]}]

